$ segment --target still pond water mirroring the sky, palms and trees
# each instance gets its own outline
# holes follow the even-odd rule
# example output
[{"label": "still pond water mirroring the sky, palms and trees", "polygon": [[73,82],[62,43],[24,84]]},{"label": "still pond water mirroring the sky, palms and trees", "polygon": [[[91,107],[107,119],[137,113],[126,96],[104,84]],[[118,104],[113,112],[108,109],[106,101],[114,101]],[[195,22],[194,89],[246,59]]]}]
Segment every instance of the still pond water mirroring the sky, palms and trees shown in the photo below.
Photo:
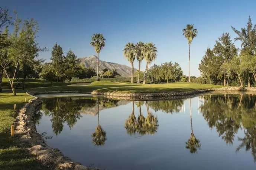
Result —
[{"label": "still pond water mirroring the sky, palms and trees", "polygon": [[[256,96],[205,94],[170,101],[42,98],[46,143],[107,170],[254,170]],[[99,113],[99,114],[98,114]]]}]

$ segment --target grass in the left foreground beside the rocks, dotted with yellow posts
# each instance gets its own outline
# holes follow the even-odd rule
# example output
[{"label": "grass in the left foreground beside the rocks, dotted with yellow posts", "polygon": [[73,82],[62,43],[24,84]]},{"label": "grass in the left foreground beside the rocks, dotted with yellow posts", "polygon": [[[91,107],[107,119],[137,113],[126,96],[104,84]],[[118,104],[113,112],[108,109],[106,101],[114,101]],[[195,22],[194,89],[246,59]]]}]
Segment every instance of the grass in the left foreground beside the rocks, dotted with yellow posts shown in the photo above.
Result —
[{"label": "grass in the left foreground beside the rocks, dotted with yellow posts", "polygon": [[[41,170],[36,158],[26,149],[17,145],[14,137],[10,136],[11,125],[16,121],[17,111],[31,99],[24,93],[0,93],[0,169],[9,170]],[[16,110],[13,106],[16,104]]]}]

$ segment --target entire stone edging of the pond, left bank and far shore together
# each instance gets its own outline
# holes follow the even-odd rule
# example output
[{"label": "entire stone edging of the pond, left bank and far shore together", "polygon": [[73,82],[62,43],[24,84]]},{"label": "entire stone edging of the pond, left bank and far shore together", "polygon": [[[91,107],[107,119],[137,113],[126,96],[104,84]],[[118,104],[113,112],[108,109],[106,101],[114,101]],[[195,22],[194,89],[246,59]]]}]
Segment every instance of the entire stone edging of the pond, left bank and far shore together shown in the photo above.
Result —
[{"label": "entire stone edging of the pond, left bank and far shore together", "polygon": [[74,162],[69,157],[65,157],[58,149],[53,149],[46,145],[42,136],[37,132],[33,116],[42,104],[42,100],[34,95],[53,93],[84,93],[91,95],[103,95],[107,98],[121,100],[165,100],[192,98],[201,93],[207,92],[255,92],[256,88],[224,87],[217,89],[195,89],[188,92],[155,92],[155,93],[120,93],[120,92],[80,92],[80,91],[45,91],[29,92],[31,99],[19,111],[16,122],[16,137],[22,147],[29,148],[31,154],[35,155],[38,161],[47,169],[61,170],[99,170],[97,168],[86,167]]}]

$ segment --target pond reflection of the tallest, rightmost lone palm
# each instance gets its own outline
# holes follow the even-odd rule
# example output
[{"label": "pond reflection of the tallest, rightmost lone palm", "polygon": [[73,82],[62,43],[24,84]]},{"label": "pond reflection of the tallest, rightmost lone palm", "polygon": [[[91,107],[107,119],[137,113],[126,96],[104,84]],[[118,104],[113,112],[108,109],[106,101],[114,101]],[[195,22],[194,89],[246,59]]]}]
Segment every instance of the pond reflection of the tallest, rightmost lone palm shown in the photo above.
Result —
[{"label": "pond reflection of the tallest, rightmost lone palm", "polygon": [[191,135],[186,142],[185,148],[190,150],[190,153],[197,153],[197,148],[201,147],[200,140],[198,140],[193,133],[192,126],[192,114],[191,114],[191,99],[189,99],[189,112],[190,112],[190,123],[191,123]]}]

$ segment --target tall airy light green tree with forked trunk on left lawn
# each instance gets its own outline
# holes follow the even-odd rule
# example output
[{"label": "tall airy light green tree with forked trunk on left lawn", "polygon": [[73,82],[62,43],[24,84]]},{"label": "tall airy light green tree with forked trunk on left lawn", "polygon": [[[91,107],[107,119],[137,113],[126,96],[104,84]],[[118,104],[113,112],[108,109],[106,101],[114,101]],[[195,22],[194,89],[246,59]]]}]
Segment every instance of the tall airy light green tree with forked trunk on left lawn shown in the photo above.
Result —
[{"label": "tall airy light green tree with forked trunk on left lawn", "polygon": [[[21,27],[20,24],[22,24]],[[14,30],[13,33],[9,36],[9,64],[7,64],[9,66],[12,64],[15,68],[12,81],[10,79],[9,74],[7,73],[6,68],[3,68],[6,77],[10,82],[14,96],[16,96],[16,91],[13,86],[13,82],[20,65],[26,62],[32,62],[33,59],[35,59],[35,57],[38,57],[39,52],[46,50],[46,48],[39,48],[38,43],[35,40],[36,33],[38,33],[38,30],[38,23],[34,21],[33,18],[31,18],[30,20],[24,20],[24,22],[22,23],[22,20],[17,18],[16,14],[16,19],[14,21]]]}]

